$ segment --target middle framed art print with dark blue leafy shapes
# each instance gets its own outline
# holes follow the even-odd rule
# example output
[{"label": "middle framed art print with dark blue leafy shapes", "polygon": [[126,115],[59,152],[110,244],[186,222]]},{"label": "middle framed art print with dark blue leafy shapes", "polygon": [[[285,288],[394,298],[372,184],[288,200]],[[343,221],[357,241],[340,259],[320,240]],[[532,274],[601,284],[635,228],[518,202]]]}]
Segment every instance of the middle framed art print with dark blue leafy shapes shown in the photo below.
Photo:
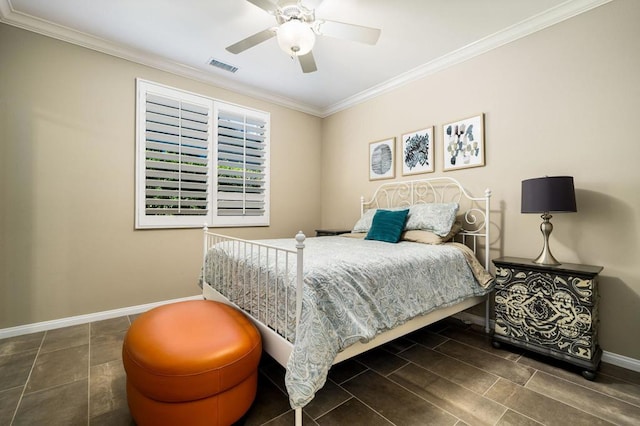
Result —
[{"label": "middle framed art print with dark blue leafy shapes", "polygon": [[433,127],[402,135],[402,174],[433,172]]}]

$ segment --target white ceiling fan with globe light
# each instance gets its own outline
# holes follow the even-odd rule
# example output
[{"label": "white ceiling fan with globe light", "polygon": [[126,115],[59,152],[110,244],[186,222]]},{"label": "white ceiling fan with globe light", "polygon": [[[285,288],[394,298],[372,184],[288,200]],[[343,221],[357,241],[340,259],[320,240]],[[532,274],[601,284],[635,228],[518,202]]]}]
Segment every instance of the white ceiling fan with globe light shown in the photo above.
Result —
[{"label": "white ceiling fan with globe light", "polygon": [[330,36],[374,45],[380,38],[377,28],[345,24],[343,22],[316,19],[315,9],[323,0],[247,0],[276,18],[277,27],[267,28],[227,47],[231,53],[238,54],[273,37],[289,56],[297,57],[304,73],[317,71],[316,61],[311,49],[316,35]]}]

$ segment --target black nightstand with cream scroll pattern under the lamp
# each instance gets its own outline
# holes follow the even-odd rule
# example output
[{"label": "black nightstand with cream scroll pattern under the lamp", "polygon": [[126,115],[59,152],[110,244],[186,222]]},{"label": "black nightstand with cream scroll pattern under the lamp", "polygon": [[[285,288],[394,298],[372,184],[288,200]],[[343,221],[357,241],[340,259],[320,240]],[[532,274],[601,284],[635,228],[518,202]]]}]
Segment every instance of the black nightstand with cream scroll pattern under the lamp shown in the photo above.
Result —
[{"label": "black nightstand with cream scroll pattern under the lamp", "polygon": [[593,380],[598,346],[598,274],[601,266],[540,265],[529,259],[495,259],[495,332],[500,342],[584,368]]}]

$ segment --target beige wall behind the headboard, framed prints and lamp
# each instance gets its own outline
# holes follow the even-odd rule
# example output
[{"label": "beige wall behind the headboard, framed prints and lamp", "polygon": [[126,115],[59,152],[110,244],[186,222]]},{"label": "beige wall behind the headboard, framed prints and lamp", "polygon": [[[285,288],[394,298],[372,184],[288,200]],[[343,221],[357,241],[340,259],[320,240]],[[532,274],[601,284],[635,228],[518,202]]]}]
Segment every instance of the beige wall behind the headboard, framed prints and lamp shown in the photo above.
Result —
[{"label": "beige wall behind the headboard, framed prints and lamp", "polygon": [[551,248],[604,266],[601,345],[640,359],[638,18],[640,2],[617,0],[325,119],[322,224],[355,222],[375,186],[370,141],[435,125],[439,142],[442,124],[483,112],[486,167],[443,173],[436,145],[431,176],[492,189],[494,258],[542,248],[539,216],[520,213],[520,182],[574,176],[578,213],[554,216]]}]

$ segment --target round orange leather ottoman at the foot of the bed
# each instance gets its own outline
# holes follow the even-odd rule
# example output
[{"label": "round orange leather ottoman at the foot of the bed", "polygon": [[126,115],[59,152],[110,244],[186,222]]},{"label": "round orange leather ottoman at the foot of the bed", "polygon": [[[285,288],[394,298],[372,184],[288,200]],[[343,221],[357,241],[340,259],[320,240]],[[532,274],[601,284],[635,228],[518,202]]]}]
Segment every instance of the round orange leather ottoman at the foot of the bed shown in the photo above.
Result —
[{"label": "round orange leather ottoman at the foot of the bed", "polygon": [[256,395],[260,333],[239,310],[193,300],[154,308],[122,346],[138,426],[229,425]]}]

